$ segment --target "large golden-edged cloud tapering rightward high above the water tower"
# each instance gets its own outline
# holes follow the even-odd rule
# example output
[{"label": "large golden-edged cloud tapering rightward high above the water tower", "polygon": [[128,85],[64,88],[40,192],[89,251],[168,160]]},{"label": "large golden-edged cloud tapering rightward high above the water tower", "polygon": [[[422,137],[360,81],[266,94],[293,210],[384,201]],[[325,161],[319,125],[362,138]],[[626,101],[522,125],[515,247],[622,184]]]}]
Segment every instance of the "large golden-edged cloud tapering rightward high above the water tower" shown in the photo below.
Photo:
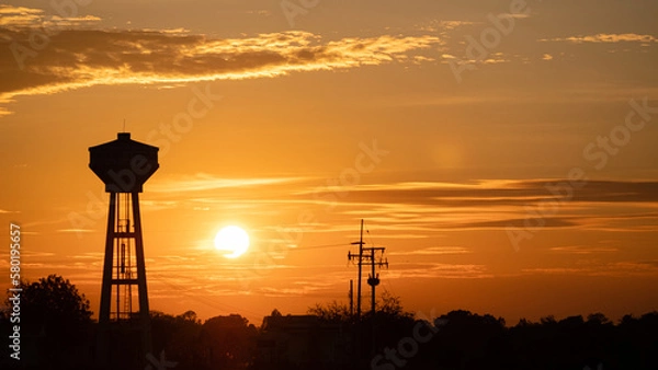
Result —
[{"label": "large golden-edged cloud tapering rightward high above the water tower", "polygon": [[[13,8],[12,8],[13,9]],[[0,25],[0,103],[21,95],[53,94],[93,85],[170,85],[194,81],[274,78],[291,72],[350,69],[388,62],[420,62],[413,51],[435,36],[347,37],[324,41],[299,31],[243,38],[208,38],[170,31],[64,28],[30,43],[38,12]],[[91,19],[86,19],[92,21]],[[81,20],[82,21],[82,20]],[[11,22],[11,23],[10,23]],[[29,24],[30,25],[29,25]],[[9,112],[4,108],[4,114]],[[0,115],[2,111],[0,111]]]}]

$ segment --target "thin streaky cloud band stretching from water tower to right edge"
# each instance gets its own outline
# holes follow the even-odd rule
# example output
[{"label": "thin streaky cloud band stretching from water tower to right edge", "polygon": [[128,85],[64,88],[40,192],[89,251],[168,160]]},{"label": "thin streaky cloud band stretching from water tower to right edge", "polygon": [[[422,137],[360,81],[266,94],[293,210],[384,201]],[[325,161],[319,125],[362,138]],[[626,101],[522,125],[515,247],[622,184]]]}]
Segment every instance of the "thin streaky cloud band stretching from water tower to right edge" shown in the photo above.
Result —
[{"label": "thin streaky cloud band stretching from water tower to right edge", "polygon": [[[465,183],[399,182],[345,186],[345,196],[311,186],[310,177],[222,178],[197,174],[152,184],[155,193],[192,193],[181,200],[186,208],[231,209],[241,215],[277,217],[285,211],[313,212],[294,227],[263,227],[263,232],[299,234],[344,233],[353,230],[345,217],[366,218],[381,239],[438,238],[446,231],[507,230],[525,227],[544,230],[579,229],[648,232],[658,224],[658,182],[589,181],[582,187],[563,187],[565,180],[481,180]],[[223,195],[216,196],[215,189]],[[252,189],[258,189],[253,192]],[[228,192],[228,193],[227,193]],[[171,208],[175,204],[149,204]],[[327,219],[328,211],[333,218]],[[537,212],[542,213],[537,213]],[[541,216],[541,217],[540,217]],[[290,228],[288,228],[290,227]],[[264,238],[264,236],[263,236]],[[276,236],[263,242],[286,244]],[[303,246],[303,245],[300,245]],[[429,245],[423,245],[429,246]],[[441,254],[440,248],[412,252]],[[451,251],[455,252],[455,251]]]}]

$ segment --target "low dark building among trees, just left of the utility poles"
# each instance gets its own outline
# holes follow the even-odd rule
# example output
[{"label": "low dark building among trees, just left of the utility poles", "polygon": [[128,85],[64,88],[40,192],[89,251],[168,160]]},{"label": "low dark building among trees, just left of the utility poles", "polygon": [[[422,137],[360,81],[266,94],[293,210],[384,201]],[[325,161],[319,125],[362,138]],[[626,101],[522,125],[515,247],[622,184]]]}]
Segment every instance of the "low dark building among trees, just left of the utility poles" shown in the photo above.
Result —
[{"label": "low dark building among trees, just left of the utility poles", "polygon": [[340,369],[351,359],[351,333],[314,315],[265,316],[258,369]]}]

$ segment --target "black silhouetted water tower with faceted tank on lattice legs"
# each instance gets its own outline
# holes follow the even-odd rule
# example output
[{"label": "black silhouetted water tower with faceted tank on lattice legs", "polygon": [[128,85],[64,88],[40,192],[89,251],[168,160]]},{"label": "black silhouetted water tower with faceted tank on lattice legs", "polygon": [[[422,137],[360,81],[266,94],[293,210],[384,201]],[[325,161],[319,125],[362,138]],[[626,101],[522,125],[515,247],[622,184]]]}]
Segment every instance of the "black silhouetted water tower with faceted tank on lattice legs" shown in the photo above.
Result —
[{"label": "black silhouetted water tower with faceted tank on lattice legs", "polygon": [[98,356],[110,368],[136,366],[151,352],[138,194],[158,170],[158,148],[120,132],[116,140],[89,148],[89,167],[110,193]]}]

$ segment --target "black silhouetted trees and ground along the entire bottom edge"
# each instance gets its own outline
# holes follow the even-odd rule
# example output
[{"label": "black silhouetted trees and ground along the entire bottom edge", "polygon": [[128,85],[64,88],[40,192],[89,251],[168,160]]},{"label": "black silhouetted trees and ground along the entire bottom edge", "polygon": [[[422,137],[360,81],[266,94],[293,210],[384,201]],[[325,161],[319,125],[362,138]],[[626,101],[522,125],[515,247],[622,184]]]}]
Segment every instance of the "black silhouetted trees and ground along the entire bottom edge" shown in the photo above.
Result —
[{"label": "black silhouetted trees and ground along the entire bottom edge", "polygon": [[[14,323],[5,301],[0,368],[95,369],[98,327],[84,296],[57,276],[23,288],[20,360],[10,357]],[[616,323],[601,313],[548,316],[508,327],[461,310],[412,315],[389,296],[378,307],[360,320],[336,302],[307,315],[274,310],[260,327],[239,314],[202,322],[193,311],[151,312],[156,352],[136,369],[658,369],[658,312]]]}]

